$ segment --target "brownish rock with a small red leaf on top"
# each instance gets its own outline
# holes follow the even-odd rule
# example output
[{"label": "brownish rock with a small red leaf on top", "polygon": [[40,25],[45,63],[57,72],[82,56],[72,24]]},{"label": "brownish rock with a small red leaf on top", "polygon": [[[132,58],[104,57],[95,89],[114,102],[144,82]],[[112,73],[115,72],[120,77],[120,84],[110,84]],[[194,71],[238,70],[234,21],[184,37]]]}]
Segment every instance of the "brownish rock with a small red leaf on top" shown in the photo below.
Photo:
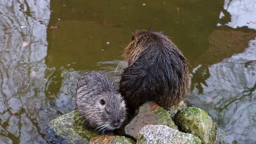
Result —
[{"label": "brownish rock with a small red leaf on top", "polygon": [[138,108],[138,115],[125,126],[125,134],[136,139],[141,128],[148,124],[167,125],[178,129],[168,111],[149,101]]}]

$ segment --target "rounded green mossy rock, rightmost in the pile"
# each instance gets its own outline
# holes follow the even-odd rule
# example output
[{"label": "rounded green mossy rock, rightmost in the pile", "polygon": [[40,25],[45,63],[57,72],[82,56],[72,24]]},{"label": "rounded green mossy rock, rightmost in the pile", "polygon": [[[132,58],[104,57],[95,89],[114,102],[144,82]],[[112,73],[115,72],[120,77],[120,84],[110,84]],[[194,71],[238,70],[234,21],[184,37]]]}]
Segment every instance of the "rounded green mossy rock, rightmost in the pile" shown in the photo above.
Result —
[{"label": "rounded green mossy rock, rightmost in the pile", "polygon": [[214,144],[216,141],[217,126],[200,108],[181,109],[175,115],[174,122],[180,131],[199,137],[202,144]]}]

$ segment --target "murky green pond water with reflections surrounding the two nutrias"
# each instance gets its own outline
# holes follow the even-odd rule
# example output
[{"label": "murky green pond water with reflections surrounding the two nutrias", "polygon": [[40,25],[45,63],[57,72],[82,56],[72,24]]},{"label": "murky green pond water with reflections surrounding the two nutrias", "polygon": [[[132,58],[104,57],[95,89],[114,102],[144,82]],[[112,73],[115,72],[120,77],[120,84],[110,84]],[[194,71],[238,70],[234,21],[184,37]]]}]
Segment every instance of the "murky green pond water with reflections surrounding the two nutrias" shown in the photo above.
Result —
[{"label": "murky green pond water with reflections surrounding the two nutrias", "polygon": [[163,31],[181,49],[191,65],[187,102],[216,121],[226,142],[256,143],[255,7],[255,0],[0,1],[0,143],[52,142],[49,121],[73,110],[79,76],[99,70],[118,83],[115,68],[140,28]]}]

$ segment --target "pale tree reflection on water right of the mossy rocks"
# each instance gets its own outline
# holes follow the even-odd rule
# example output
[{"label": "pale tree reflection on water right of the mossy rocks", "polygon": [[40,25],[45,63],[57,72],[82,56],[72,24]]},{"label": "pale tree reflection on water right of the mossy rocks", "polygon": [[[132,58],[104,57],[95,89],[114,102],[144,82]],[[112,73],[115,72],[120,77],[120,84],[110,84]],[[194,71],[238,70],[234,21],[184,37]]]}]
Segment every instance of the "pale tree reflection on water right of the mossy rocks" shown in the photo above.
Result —
[{"label": "pale tree reflection on water right of the mossy rocks", "polygon": [[[254,143],[256,39],[249,42],[245,52],[210,67],[201,66],[194,75],[208,75],[208,78],[191,85],[188,101],[206,110],[227,133],[226,137],[235,137],[246,144]],[[231,143],[232,139],[226,141]]]}]

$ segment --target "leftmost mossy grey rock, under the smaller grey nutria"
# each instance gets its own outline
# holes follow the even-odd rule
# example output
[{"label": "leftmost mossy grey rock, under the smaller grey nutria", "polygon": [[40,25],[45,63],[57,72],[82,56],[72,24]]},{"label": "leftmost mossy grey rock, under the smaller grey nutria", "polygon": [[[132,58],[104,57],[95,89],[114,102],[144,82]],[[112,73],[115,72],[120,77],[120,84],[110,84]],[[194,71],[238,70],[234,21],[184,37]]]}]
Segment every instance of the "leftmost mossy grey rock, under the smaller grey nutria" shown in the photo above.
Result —
[{"label": "leftmost mossy grey rock, under the smaller grey nutria", "polygon": [[69,144],[85,144],[92,137],[98,135],[98,133],[85,128],[76,111],[53,119],[50,121],[50,128],[53,128],[55,137],[61,137]]}]

